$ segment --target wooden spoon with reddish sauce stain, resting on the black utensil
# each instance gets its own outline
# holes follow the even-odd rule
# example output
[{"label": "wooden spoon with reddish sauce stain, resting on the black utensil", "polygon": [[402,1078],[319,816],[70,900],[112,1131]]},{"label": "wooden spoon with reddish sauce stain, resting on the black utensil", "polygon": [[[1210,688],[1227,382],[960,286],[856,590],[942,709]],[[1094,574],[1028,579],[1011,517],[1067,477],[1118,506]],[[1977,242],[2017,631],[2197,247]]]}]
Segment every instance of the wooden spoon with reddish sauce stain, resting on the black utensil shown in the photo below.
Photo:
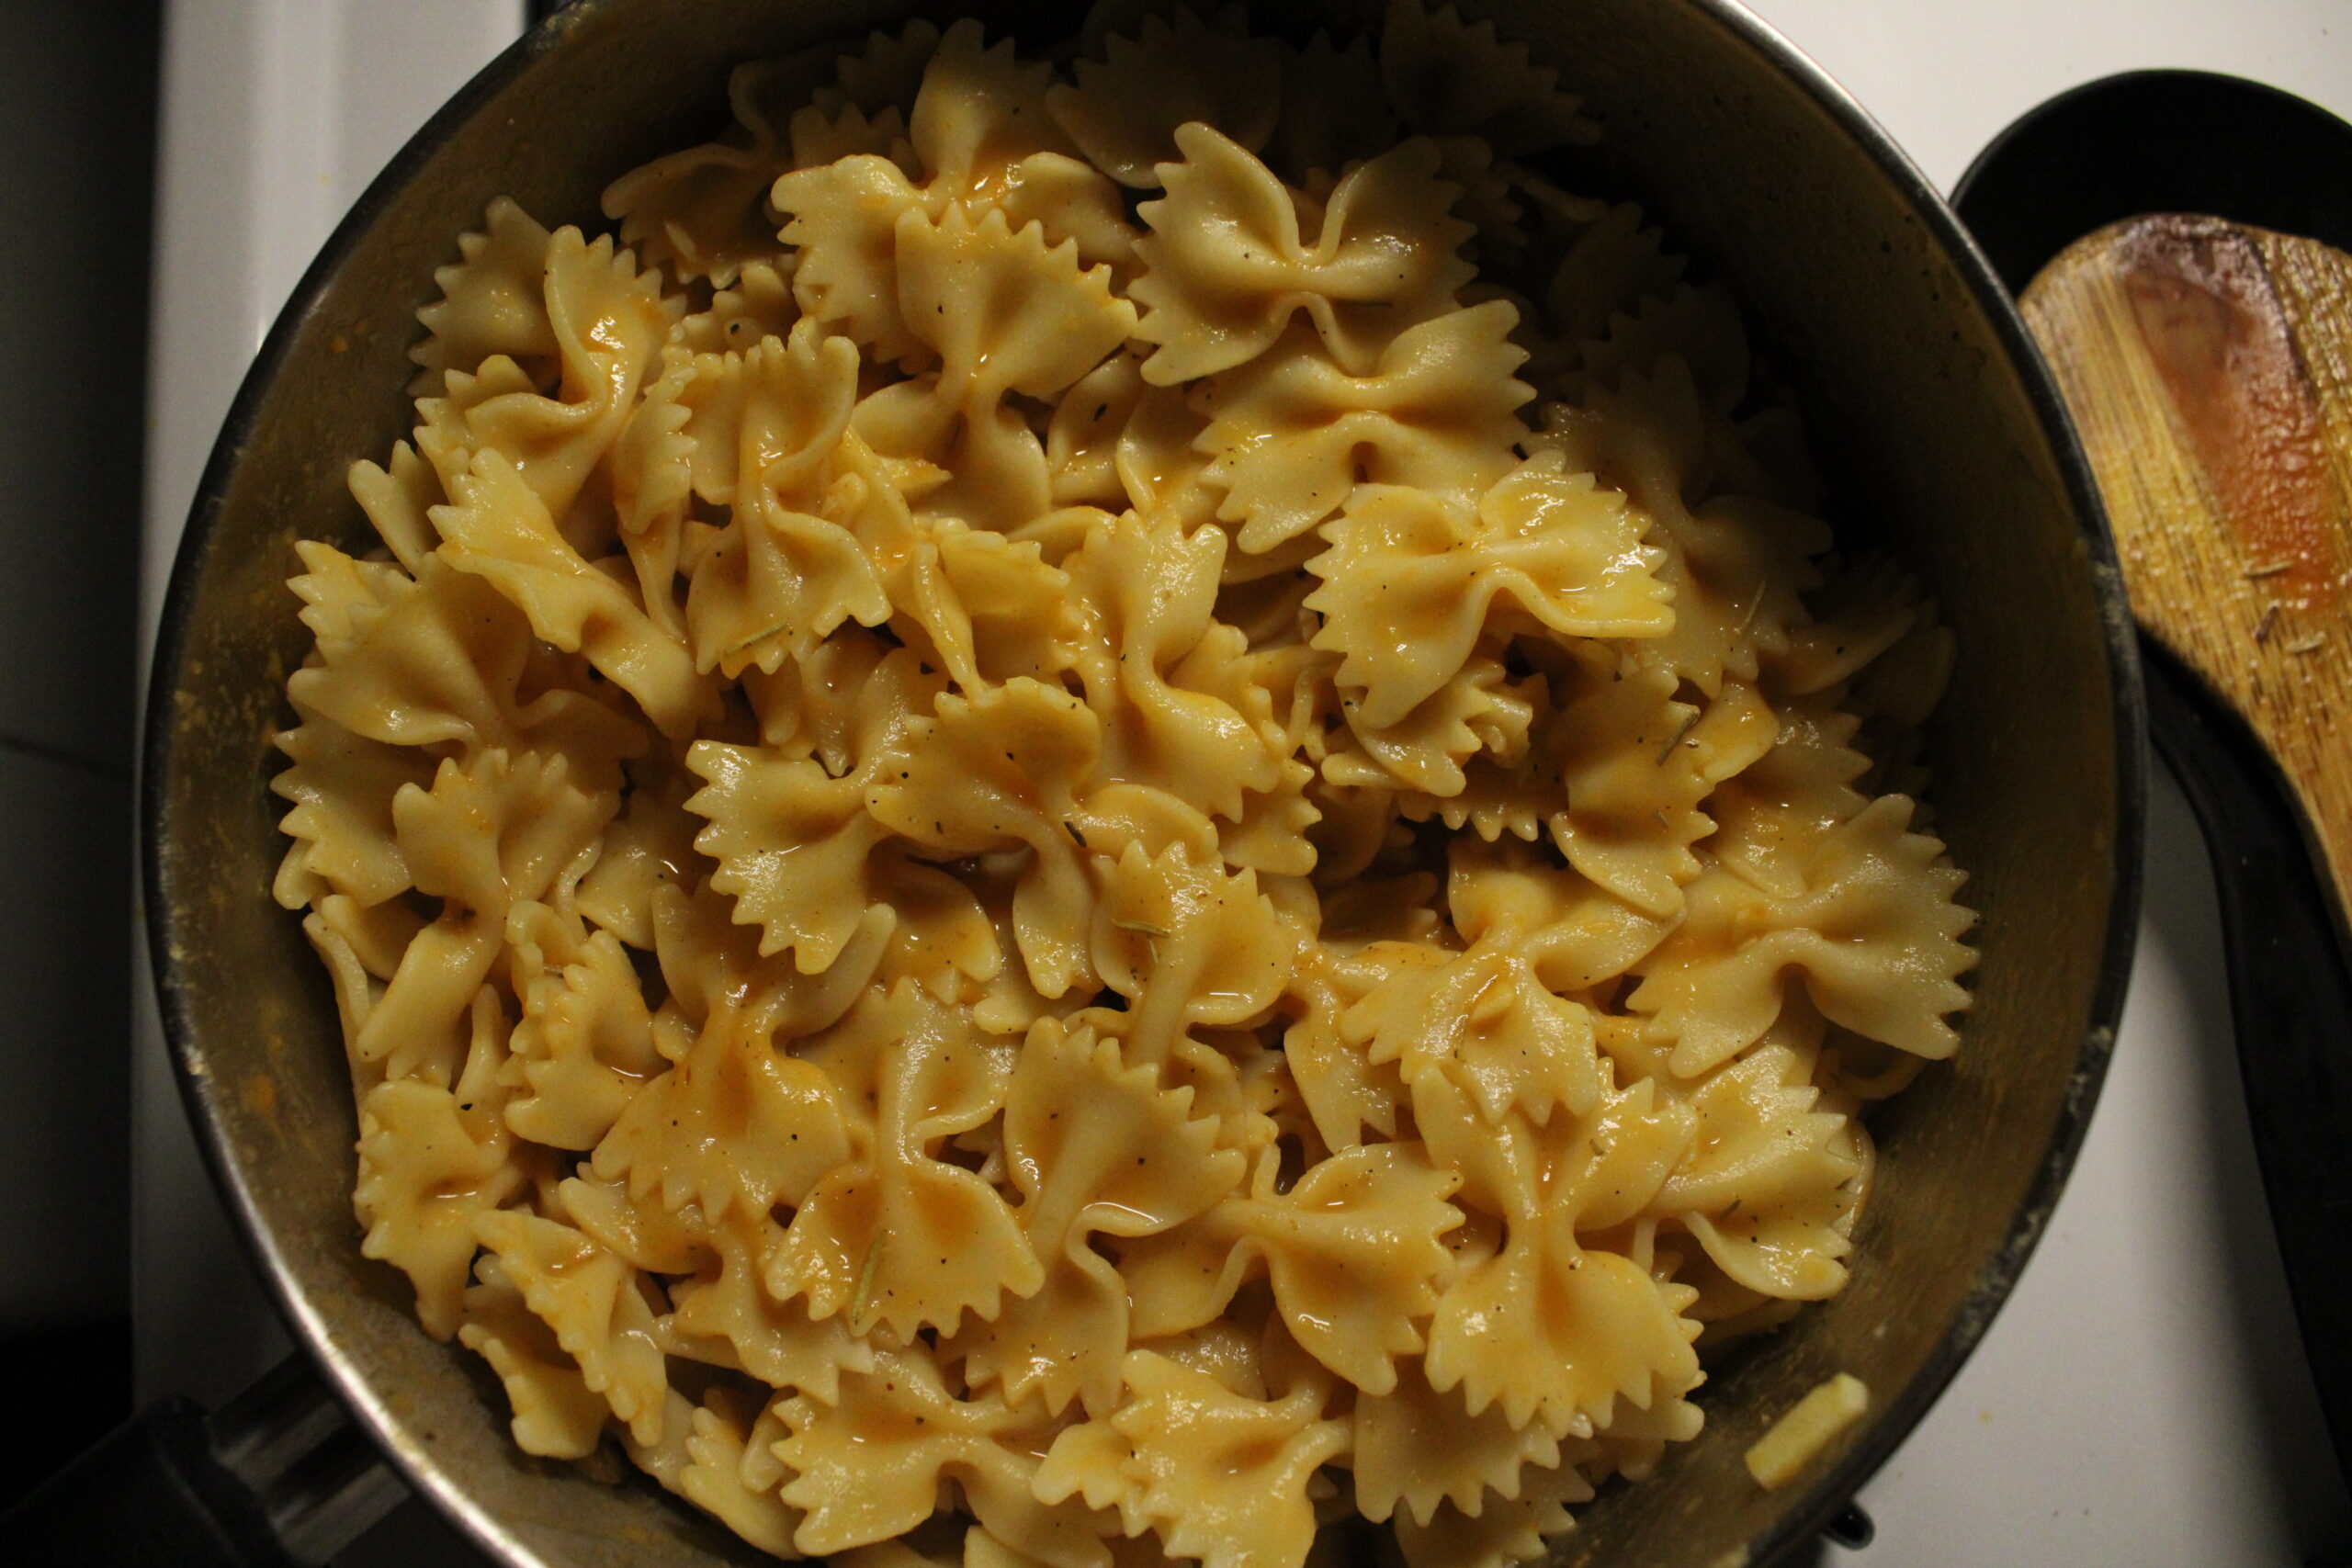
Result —
[{"label": "wooden spoon with reddish sauce stain, resting on the black utensil", "polygon": [[2286,773],[2352,910],[2352,256],[2199,216],[2112,223],[2025,289],[2131,609]]}]

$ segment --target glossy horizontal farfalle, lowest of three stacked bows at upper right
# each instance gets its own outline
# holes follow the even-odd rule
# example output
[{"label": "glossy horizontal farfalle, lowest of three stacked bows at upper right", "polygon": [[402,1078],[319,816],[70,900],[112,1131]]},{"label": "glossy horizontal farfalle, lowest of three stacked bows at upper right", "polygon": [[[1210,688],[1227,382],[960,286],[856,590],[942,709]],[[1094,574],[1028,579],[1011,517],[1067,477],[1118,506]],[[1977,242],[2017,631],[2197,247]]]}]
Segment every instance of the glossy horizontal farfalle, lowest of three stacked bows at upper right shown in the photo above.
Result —
[{"label": "glossy horizontal farfalle, lowest of three stacked bows at upper right", "polygon": [[1308,562],[1324,581],[1305,599],[1324,618],[1315,646],[1343,656],[1338,682],[1362,689],[1362,722],[1385,726],[1454,679],[1498,611],[1559,637],[1661,635],[1675,614],[1642,524],[1559,454],[1515,468],[1475,512],[1364,484]]}]

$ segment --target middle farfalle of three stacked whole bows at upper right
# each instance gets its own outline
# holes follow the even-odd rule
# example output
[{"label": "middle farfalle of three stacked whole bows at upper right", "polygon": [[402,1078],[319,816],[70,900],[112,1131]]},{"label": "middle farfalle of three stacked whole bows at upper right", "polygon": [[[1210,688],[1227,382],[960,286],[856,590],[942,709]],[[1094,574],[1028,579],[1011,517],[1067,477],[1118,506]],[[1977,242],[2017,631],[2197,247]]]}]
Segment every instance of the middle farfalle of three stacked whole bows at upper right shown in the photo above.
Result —
[{"label": "middle farfalle of three stacked whole bows at upper right", "polygon": [[1357,480],[1475,508],[1517,465],[1512,444],[1526,435],[1515,409],[1534,390],[1512,378],[1526,360],[1512,320],[1503,301],[1432,315],[1390,339],[1362,376],[1291,334],[1211,383],[1209,428],[1192,447],[1211,454],[1202,477],[1225,487],[1216,515],[1242,524],[1235,543],[1263,555],[1305,534]]}]

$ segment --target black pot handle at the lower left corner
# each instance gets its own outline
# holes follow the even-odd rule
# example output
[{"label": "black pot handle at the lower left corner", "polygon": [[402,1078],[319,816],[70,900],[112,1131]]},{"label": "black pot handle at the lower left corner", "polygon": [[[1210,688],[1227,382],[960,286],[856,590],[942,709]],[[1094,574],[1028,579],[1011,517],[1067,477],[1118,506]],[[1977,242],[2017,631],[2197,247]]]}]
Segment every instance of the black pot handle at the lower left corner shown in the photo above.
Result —
[{"label": "black pot handle at the lower left corner", "polygon": [[301,1354],[207,1415],[160,1399],[42,1481],[0,1540],[26,1563],[315,1568],[407,1486]]}]

